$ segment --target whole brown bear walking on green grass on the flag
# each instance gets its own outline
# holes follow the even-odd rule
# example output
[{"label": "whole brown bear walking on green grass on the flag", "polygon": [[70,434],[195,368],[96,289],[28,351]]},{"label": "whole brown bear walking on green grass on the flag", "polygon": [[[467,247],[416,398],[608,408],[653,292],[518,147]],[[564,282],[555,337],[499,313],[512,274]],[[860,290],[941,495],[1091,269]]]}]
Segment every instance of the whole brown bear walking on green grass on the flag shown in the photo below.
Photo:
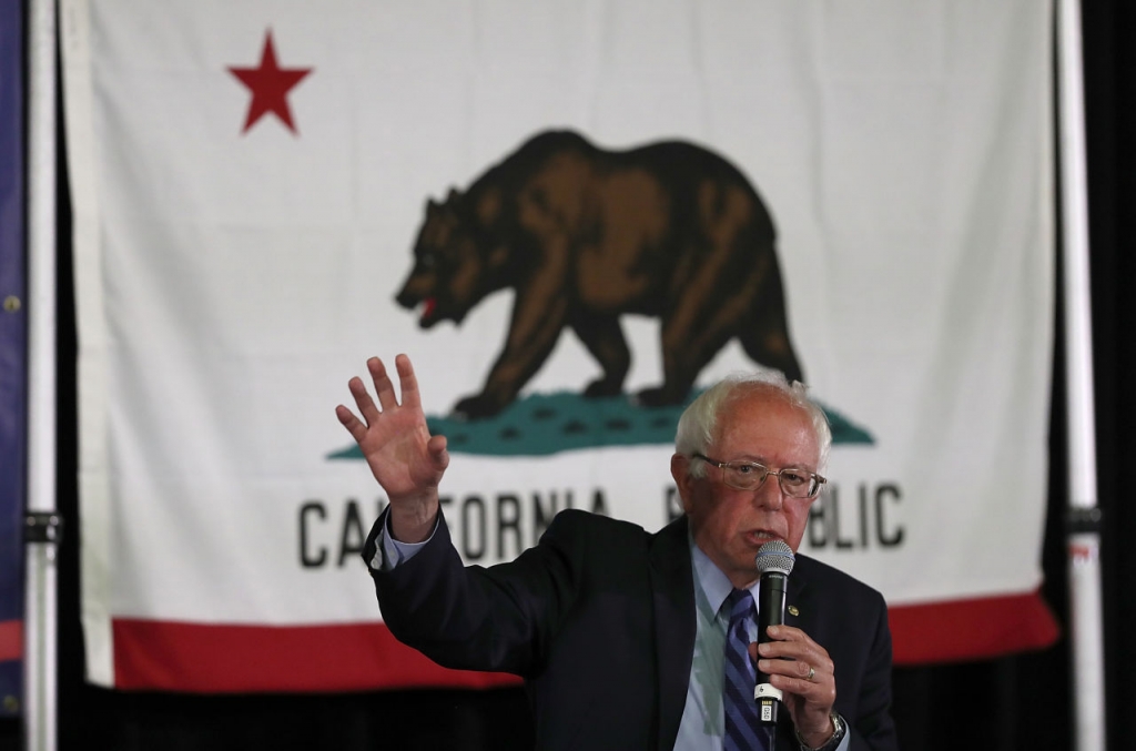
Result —
[{"label": "whole brown bear walking on green grass on the flag", "polygon": [[670,141],[627,151],[540,133],[444,202],[427,202],[415,265],[398,293],[420,325],[458,324],[487,294],[516,291],[504,349],[454,412],[500,412],[570,327],[602,368],[586,397],[619,394],[625,314],[661,322],[662,383],[644,406],[682,403],[737,337],[758,364],[801,379],[790,342],[772,219],[720,156]]}]

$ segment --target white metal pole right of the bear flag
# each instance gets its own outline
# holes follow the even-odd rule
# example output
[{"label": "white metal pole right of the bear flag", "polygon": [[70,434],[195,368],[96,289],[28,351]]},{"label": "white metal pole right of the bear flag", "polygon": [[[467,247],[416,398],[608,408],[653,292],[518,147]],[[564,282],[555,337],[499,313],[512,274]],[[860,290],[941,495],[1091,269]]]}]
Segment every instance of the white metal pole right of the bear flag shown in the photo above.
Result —
[{"label": "white metal pole right of the bear flag", "polygon": [[1079,751],[1103,751],[1104,644],[1096,507],[1096,424],[1088,274],[1088,198],[1079,0],[1058,1],[1058,102],[1069,417],[1069,612]]}]

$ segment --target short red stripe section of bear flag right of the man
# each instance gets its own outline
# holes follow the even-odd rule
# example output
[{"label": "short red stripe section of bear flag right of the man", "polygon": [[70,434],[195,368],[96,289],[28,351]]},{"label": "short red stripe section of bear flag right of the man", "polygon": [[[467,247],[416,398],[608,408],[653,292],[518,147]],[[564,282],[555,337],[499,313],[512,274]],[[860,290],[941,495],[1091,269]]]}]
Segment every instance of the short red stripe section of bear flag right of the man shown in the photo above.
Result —
[{"label": "short red stripe section of bear flag right of the man", "polygon": [[896,665],[980,660],[1044,649],[1056,619],[1039,593],[887,609]]}]

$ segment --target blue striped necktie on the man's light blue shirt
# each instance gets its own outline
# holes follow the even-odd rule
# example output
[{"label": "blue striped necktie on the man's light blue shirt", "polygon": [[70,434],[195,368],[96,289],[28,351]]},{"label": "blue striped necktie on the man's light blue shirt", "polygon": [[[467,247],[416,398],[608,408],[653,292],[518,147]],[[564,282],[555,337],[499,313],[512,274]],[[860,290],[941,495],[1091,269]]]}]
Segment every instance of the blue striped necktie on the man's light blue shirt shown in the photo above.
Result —
[{"label": "blue striped necktie on the man's light blue shirt", "polygon": [[726,727],[724,751],[766,751],[767,732],[758,723],[758,703],[753,700],[757,668],[750,659],[750,624],[753,621],[753,598],[745,590],[734,590],[729,604],[729,631],[726,632],[726,660],[722,706]]}]

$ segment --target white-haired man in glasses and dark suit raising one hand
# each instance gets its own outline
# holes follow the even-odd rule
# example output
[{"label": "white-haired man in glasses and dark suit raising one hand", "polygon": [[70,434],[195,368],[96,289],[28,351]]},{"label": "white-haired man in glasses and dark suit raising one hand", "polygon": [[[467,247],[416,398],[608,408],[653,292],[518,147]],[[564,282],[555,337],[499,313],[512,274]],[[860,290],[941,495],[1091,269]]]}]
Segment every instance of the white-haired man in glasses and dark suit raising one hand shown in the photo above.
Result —
[{"label": "white-haired man in glasses and dark suit raising one hand", "polygon": [[[450,542],[445,437],[426,428],[410,360],[395,365],[401,403],[371,358],[378,404],[352,378],[362,419],[336,408],[390,500],[364,551],[384,619],[441,665],[523,676],[537,748],[896,748],[878,592],[797,556],[785,624],[751,643],[755,554],[772,540],[797,550],[825,482],[830,433],[803,386],[730,379],[687,408],[670,462],[686,514],[660,532],[566,510],[486,569]],[[783,692],[776,727],[757,718],[754,660]]]}]

